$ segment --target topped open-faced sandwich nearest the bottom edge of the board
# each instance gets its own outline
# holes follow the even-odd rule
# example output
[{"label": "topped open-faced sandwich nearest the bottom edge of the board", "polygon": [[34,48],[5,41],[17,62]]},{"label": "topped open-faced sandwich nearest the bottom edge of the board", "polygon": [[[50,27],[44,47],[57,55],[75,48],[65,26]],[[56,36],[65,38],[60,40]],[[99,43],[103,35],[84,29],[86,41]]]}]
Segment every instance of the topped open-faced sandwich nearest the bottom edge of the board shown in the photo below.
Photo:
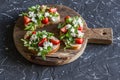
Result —
[{"label": "topped open-faced sandwich nearest the bottom edge of the board", "polygon": [[46,31],[27,31],[24,39],[24,46],[35,56],[42,56],[55,53],[60,47],[60,41],[54,37],[53,33]]}]

